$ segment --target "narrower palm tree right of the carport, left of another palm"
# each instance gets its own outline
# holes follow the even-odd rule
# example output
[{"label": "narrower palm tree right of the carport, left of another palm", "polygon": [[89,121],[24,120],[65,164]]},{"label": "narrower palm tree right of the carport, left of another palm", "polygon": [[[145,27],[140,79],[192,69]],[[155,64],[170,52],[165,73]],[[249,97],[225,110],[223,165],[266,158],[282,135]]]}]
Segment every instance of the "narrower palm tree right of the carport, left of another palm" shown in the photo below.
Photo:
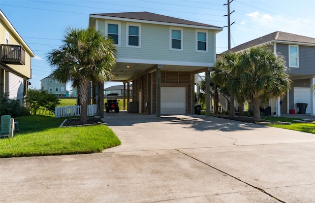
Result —
[{"label": "narrower palm tree right of the carport, left of another palm", "polygon": [[[215,65],[216,83],[221,87],[221,93],[230,97],[230,116],[235,117],[235,95],[239,92],[238,86],[238,58],[239,55],[233,52],[225,53]],[[225,91],[223,91],[225,90]]]}]

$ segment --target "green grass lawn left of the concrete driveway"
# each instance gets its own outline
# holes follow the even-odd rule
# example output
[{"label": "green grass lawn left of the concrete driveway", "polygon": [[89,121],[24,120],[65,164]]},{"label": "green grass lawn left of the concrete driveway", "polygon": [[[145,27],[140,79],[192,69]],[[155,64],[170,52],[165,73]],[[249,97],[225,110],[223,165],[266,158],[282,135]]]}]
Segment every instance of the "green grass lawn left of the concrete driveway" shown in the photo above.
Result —
[{"label": "green grass lawn left of the concrete driveway", "polygon": [[20,133],[0,139],[0,157],[98,153],[121,144],[107,126],[58,128],[63,120],[43,115],[16,118]]}]

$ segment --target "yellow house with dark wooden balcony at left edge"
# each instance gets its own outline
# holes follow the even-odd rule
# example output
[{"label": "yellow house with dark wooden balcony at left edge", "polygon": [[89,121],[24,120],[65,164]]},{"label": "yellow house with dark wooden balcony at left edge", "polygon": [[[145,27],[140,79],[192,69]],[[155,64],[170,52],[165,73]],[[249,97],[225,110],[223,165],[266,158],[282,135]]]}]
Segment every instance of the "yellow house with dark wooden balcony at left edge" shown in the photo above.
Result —
[{"label": "yellow house with dark wooden balcony at left edge", "polygon": [[30,47],[0,10],[0,92],[9,93],[9,99],[22,102],[28,94],[31,79]]}]

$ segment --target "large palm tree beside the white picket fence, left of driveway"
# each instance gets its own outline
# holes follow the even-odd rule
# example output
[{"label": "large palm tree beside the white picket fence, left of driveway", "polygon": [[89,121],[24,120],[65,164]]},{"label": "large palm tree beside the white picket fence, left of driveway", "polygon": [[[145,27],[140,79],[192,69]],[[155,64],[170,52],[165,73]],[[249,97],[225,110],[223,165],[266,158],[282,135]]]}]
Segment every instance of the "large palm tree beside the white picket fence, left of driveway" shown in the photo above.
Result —
[{"label": "large palm tree beside the white picket fence, left of driveway", "polygon": [[105,82],[113,75],[116,46],[113,41],[93,28],[68,28],[59,49],[48,53],[47,61],[55,68],[53,76],[61,82],[71,82],[78,88],[81,104],[80,122],[87,122],[88,93],[91,81]]}]

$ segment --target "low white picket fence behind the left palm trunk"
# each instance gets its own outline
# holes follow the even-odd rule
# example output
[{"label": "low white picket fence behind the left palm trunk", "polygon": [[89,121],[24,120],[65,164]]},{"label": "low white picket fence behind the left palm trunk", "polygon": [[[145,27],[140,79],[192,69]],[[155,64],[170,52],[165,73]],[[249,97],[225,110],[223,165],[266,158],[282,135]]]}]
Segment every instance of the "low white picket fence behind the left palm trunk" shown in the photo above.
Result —
[{"label": "low white picket fence behind the left palm trunk", "polygon": [[[97,112],[97,105],[88,105],[88,116],[95,116]],[[70,117],[70,116],[80,116],[81,106],[56,106],[55,107],[55,118]]]}]

